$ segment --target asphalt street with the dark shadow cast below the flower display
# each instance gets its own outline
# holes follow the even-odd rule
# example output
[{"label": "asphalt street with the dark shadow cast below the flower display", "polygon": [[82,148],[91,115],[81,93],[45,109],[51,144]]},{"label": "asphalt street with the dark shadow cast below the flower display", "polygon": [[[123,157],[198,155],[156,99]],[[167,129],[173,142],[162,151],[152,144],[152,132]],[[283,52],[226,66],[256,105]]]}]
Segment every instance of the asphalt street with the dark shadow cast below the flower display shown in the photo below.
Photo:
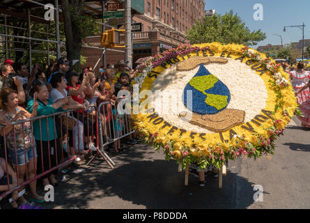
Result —
[{"label": "asphalt street with the dark shadow cast below the flower display", "polygon": [[[173,160],[144,144],[112,155],[116,169],[97,159],[68,182],[55,187],[55,201],[45,208],[310,208],[310,131],[293,118],[277,141],[275,155],[260,160],[228,163],[223,189],[217,178],[198,178],[178,172]],[[62,175],[62,174],[61,174]],[[61,178],[61,176],[59,176]],[[263,201],[254,202],[254,185],[263,186]]]}]

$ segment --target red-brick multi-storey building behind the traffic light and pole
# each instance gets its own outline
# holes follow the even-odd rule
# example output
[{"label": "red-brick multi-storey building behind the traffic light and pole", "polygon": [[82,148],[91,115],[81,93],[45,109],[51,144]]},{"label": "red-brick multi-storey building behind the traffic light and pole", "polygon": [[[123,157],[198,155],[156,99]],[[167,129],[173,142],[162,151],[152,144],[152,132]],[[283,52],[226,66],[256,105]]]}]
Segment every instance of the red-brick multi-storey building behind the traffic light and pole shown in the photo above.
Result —
[{"label": "red-brick multi-storey building behind the traffic light and pole", "polygon": [[[136,13],[132,22],[141,22],[141,32],[132,32],[132,65],[141,57],[155,56],[166,49],[189,43],[186,32],[196,20],[205,16],[205,0],[145,0],[144,14]],[[123,28],[124,19],[118,19],[118,28]],[[124,43],[125,36],[121,36]],[[100,36],[88,37],[86,42],[100,46]],[[125,43],[124,43],[125,45]],[[86,66],[94,66],[99,59],[100,50],[84,49],[82,54],[88,57]],[[115,64],[124,59],[124,53],[107,50],[106,64]],[[100,64],[102,62],[100,61]]]}]

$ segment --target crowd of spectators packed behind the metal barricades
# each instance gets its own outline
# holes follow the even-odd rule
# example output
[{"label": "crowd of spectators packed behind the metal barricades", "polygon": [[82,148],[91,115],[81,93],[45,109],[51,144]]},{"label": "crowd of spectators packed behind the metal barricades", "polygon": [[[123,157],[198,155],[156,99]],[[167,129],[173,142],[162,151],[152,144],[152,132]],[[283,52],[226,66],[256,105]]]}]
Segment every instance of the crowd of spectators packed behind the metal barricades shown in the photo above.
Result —
[{"label": "crowd of spectators packed behind the metal barricades", "polygon": [[[120,137],[125,133],[124,122],[129,115],[117,109],[125,98],[118,92],[131,92],[132,78],[132,71],[123,61],[98,70],[88,67],[80,73],[70,69],[68,59],[63,57],[48,68],[37,63],[31,72],[25,64],[12,59],[1,64],[0,192],[8,190],[8,184],[10,188],[17,183],[21,185],[74,155],[96,151],[95,107],[101,102],[109,102],[100,113],[102,139],[109,143],[105,149],[109,153],[121,153]],[[62,114],[50,116],[58,112]],[[38,116],[47,117],[22,121]],[[140,141],[131,134],[125,139],[127,144]],[[79,157],[75,159],[79,160]],[[56,174],[56,168],[44,174],[40,178],[42,185],[58,185]],[[31,201],[45,202],[36,186],[36,180],[29,183]],[[18,196],[21,190],[12,194],[13,208],[29,202]]]}]

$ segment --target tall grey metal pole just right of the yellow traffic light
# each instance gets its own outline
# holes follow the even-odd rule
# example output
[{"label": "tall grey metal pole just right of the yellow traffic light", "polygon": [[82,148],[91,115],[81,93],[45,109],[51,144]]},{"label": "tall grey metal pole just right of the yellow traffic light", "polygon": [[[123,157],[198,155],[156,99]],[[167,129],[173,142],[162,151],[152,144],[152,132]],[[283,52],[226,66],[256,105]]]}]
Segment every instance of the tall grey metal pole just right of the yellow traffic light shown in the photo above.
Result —
[{"label": "tall grey metal pole just right of the yellow traffic light", "polygon": [[125,62],[132,68],[131,0],[125,0]]}]

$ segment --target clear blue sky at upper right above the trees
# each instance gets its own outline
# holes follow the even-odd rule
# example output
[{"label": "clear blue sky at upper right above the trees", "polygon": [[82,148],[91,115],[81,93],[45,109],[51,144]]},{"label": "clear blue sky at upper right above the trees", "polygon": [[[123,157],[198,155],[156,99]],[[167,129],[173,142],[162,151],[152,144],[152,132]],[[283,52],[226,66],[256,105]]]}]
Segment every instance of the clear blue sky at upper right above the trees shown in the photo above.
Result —
[{"label": "clear blue sky at upper right above the trees", "polygon": [[[260,3],[263,6],[263,20],[254,20],[254,5]],[[206,10],[215,9],[216,13],[224,15],[230,10],[237,13],[242,22],[251,30],[261,29],[266,33],[265,40],[258,42],[254,48],[260,45],[281,45],[302,40],[300,28],[286,28],[284,26],[306,25],[304,27],[304,39],[310,38],[310,0],[206,0]]]}]

